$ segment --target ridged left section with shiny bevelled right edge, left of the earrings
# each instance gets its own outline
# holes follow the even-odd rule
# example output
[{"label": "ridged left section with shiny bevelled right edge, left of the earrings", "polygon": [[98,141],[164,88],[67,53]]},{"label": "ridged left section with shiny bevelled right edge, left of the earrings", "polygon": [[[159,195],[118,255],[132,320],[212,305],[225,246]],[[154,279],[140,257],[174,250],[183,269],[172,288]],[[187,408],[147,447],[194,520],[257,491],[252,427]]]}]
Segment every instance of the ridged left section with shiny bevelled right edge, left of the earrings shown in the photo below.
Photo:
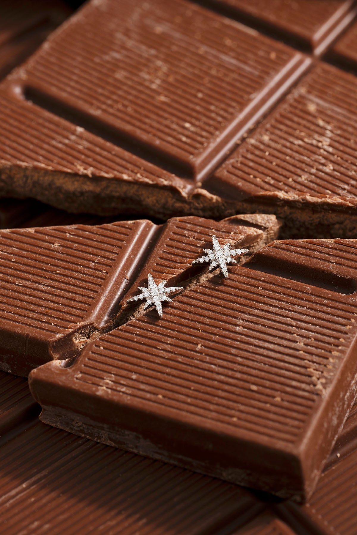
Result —
[{"label": "ridged left section with shiny bevelled right edge, left of the earrings", "polygon": [[124,221],[0,232],[1,368],[74,355],[115,314],[155,226]]}]

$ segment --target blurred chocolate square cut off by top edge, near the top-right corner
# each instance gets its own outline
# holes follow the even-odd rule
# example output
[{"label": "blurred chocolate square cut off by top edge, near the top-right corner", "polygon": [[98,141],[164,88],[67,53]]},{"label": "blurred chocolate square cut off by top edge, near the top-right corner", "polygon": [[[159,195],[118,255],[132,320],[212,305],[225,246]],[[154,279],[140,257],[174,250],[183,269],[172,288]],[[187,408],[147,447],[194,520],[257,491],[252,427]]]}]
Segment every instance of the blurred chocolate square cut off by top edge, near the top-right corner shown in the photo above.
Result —
[{"label": "blurred chocolate square cut off by top edge, near the top-right corner", "polygon": [[290,44],[320,55],[356,14],[354,0],[209,0]]}]

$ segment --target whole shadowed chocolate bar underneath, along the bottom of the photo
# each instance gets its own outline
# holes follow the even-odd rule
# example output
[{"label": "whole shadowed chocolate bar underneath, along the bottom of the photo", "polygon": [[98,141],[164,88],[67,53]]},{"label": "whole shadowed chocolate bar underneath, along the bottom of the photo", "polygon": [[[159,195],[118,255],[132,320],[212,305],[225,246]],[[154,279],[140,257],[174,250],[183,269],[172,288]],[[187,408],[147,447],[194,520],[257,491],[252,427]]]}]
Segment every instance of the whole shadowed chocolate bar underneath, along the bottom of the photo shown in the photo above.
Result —
[{"label": "whole shadowed chocolate bar underneath, along the bottom of the photo", "polygon": [[[26,526],[28,530],[40,532],[43,528],[71,535],[110,526],[112,533],[140,535],[336,535],[337,529],[340,535],[354,535],[355,508],[350,507],[354,479],[344,470],[348,468],[344,465],[346,455],[355,449],[353,441],[347,453],[337,457],[335,447],[331,454],[340,475],[332,485],[330,481],[319,482],[316,493],[302,508],[291,502],[278,505],[268,496],[262,501],[241,487],[37,423],[35,411],[32,417],[23,415],[22,421],[13,418],[24,400],[29,406],[35,403],[25,379],[0,372],[0,381],[5,385],[0,398],[1,454],[6,454],[0,467],[0,525],[6,533],[17,535]],[[356,431],[355,415],[356,411],[351,411],[343,434],[346,427],[352,431],[353,425]],[[11,432],[4,434],[6,418]],[[341,477],[344,472],[349,477]],[[321,507],[321,497],[315,498],[318,488],[320,496],[325,496],[325,508]],[[341,496],[338,502],[336,496]]]}]

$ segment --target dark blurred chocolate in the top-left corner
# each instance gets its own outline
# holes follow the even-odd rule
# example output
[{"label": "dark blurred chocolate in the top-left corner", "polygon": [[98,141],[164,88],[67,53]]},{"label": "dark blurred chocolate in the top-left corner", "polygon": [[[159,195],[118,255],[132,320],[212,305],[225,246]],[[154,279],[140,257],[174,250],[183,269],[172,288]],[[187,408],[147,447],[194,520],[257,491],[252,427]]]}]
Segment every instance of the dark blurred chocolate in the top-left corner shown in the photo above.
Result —
[{"label": "dark blurred chocolate in the top-left corner", "polygon": [[30,56],[70,13],[59,0],[2,0],[0,78]]}]

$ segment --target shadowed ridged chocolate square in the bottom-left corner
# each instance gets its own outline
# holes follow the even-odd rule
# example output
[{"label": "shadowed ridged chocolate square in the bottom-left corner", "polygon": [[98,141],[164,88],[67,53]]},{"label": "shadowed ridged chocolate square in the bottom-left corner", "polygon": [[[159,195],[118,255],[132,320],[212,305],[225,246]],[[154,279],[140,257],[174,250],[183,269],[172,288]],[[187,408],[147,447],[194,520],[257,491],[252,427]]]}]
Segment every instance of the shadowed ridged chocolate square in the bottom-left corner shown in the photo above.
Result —
[{"label": "shadowed ridged chocolate square in the bottom-left corner", "polygon": [[262,508],[240,487],[41,423],[0,458],[0,530],[9,535],[201,535]]}]

